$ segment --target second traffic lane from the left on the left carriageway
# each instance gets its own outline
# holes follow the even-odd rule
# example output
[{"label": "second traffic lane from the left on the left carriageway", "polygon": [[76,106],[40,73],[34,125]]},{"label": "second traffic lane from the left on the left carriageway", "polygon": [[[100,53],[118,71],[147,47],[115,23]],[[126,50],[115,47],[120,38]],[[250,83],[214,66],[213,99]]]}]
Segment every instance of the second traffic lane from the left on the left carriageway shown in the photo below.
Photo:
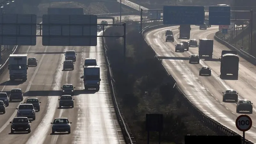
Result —
[{"label": "second traffic lane from the left on the left carriageway", "polygon": [[[40,47],[40,46],[38,46]],[[36,97],[41,101],[41,107],[40,112],[36,113],[36,120],[31,123],[31,133],[30,134],[22,134],[22,137],[24,139],[22,141],[18,140],[20,139],[20,134],[11,134],[10,136],[6,137],[3,141],[10,141],[16,140],[16,143],[26,143],[29,137],[34,137],[34,133],[39,127],[40,123],[43,121],[44,118],[47,116],[47,113],[52,112],[51,105],[49,106],[49,102],[47,101],[47,96],[51,93],[51,82],[54,83],[53,77],[51,74],[55,73],[54,68],[51,66],[58,65],[58,57],[52,57],[51,55],[45,54],[46,52],[56,52],[58,50],[63,51],[63,47],[45,47],[45,52],[42,55],[41,60],[38,62],[37,68],[33,73],[32,78],[30,79],[30,82],[27,86],[27,90],[25,90],[24,96],[28,97]],[[48,74],[45,75],[45,74]],[[49,76],[50,75],[50,76]],[[50,80],[50,81],[49,81]],[[56,106],[55,106],[56,107]],[[16,115],[15,115],[16,116]],[[6,132],[10,131],[10,124],[5,128]],[[40,131],[44,131],[44,129],[41,129]],[[3,132],[5,134],[6,132]],[[2,134],[2,133],[1,133]],[[0,135],[1,138],[4,138]],[[37,136],[39,137],[39,136]],[[11,141],[12,141],[11,140]],[[15,143],[15,142],[13,142]]]}]

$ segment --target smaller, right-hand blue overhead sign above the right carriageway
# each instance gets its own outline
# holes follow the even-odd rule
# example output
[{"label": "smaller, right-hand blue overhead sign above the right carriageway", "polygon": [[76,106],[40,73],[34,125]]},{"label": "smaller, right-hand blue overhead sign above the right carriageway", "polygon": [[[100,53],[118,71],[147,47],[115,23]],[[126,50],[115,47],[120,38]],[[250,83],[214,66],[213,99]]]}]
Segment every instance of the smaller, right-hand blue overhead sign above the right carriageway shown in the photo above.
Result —
[{"label": "smaller, right-hand blue overhead sign above the right carriageway", "polygon": [[230,6],[209,6],[210,25],[230,25]]}]

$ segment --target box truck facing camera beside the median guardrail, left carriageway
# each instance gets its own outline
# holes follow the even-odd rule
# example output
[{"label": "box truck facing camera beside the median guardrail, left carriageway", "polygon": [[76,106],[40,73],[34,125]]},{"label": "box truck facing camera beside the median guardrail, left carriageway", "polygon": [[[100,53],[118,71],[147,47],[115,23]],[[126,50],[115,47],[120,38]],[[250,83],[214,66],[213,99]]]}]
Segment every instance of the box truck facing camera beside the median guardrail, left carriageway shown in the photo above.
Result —
[{"label": "box truck facing camera beside the median guardrail, left carriageway", "polygon": [[100,67],[84,66],[84,89],[100,90]]}]

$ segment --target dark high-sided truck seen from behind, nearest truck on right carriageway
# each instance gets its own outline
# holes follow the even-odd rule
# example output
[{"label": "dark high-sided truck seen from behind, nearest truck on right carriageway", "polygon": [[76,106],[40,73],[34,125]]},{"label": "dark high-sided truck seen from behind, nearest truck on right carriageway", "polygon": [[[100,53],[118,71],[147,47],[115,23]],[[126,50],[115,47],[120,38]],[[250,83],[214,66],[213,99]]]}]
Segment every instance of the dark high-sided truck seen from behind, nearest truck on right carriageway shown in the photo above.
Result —
[{"label": "dark high-sided truck seen from behind, nearest truck on right carriageway", "polygon": [[230,53],[221,52],[220,58],[220,76],[227,76],[227,74],[232,74],[234,78],[238,79],[238,68],[239,68],[239,57],[236,51],[230,51]]}]

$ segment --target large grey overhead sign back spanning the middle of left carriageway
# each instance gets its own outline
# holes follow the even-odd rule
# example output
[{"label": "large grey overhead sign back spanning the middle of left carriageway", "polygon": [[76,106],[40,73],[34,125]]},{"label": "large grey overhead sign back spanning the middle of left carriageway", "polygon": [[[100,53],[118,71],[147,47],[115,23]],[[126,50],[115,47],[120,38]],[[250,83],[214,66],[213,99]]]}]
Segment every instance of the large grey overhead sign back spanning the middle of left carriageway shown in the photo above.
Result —
[{"label": "large grey overhead sign back spanning the middle of left carriageway", "polygon": [[43,15],[44,46],[96,46],[96,15]]}]

